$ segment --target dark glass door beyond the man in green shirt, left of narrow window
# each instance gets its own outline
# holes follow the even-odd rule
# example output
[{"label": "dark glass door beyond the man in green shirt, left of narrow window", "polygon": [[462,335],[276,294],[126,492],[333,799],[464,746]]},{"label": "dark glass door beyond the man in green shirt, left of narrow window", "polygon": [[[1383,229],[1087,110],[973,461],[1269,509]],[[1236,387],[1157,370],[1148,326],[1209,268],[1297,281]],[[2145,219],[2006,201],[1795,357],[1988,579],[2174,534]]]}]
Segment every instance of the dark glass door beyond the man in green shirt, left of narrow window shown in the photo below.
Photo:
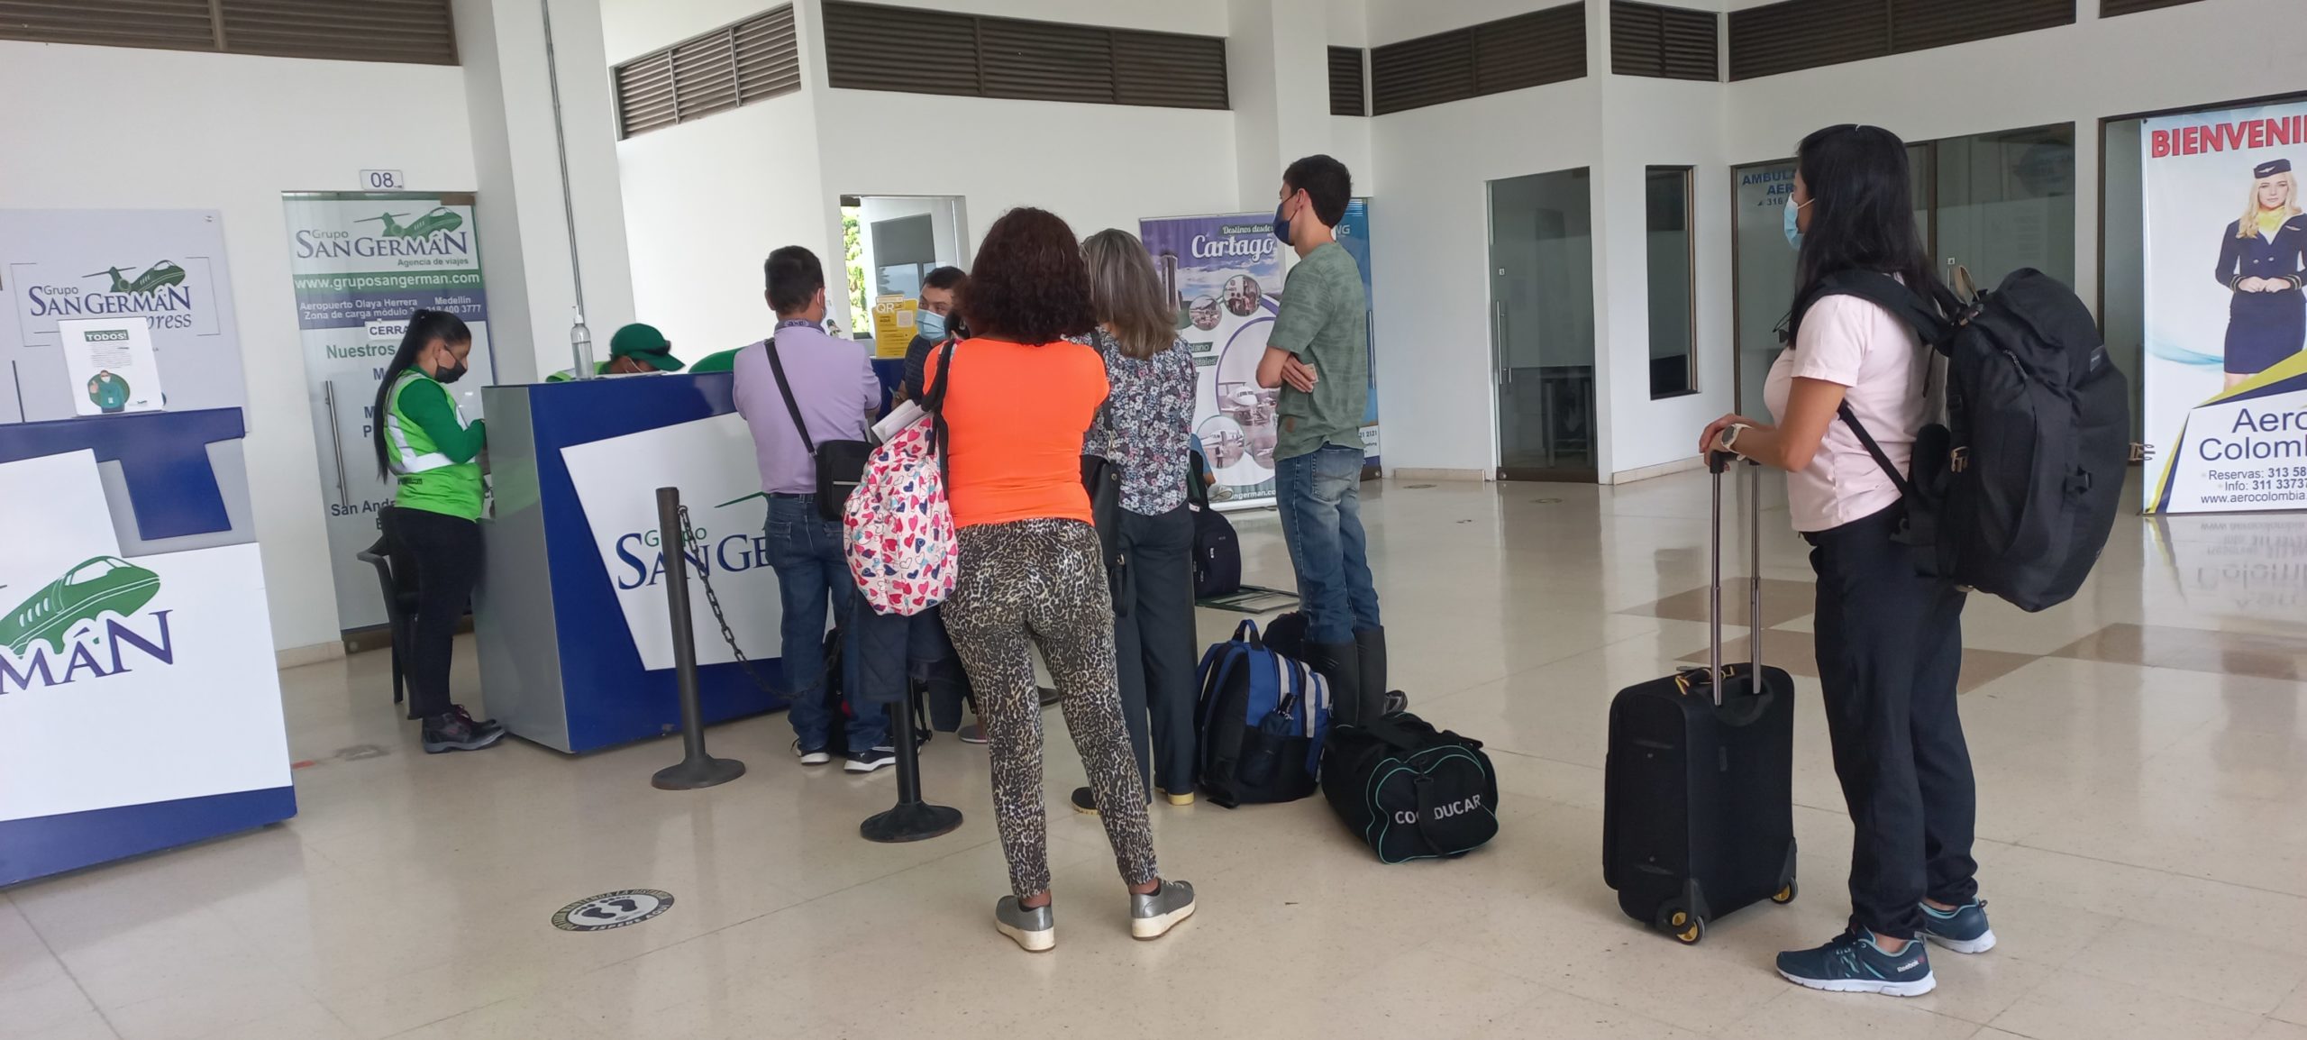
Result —
[{"label": "dark glass door beyond the man in green shirt, left of narrow window", "polygon": [[1587,171],[1490,182],[1497,477],[1596,477],[1594,210]]}]

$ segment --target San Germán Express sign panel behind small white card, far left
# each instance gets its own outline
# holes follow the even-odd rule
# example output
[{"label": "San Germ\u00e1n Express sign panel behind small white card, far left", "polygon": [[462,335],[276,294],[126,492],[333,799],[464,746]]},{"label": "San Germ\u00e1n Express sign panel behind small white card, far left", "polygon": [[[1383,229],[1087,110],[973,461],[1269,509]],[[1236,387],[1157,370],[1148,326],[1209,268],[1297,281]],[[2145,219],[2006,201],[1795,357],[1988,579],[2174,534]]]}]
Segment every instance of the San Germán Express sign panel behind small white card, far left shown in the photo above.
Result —
[{"label": "San Germ\u00e1n Express sign panel behind small white card, far left", "polygon": [[[171,410],[240,408],[240,327],[215,210],[0,210],[0,422],[69,420],[157,383]],[[60,327],[62,323],[62,327]],[[74,325],[92,323],[92,325]],[[143,325],[155,380],[74,378],[69,332]]]}]

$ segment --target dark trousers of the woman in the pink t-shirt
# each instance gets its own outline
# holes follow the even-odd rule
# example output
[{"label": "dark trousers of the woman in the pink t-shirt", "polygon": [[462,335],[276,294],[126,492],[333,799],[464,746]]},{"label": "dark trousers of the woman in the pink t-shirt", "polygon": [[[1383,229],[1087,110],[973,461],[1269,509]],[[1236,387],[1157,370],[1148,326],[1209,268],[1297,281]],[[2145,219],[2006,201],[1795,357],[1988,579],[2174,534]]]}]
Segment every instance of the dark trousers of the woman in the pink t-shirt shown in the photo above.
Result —
[{"label": "dark trousers of the woman in the pink t-shirt", "polygon": [[1922,932],[1924,897],[1977,895],[1970,858],[1977,782],[1956,715],[1963,593],[1915,574],[1892,542],[1903,507],[1804,535],[1818,572],[1818,683],[1834,775],[1855,842],[1850,922],[1885,936]]}]

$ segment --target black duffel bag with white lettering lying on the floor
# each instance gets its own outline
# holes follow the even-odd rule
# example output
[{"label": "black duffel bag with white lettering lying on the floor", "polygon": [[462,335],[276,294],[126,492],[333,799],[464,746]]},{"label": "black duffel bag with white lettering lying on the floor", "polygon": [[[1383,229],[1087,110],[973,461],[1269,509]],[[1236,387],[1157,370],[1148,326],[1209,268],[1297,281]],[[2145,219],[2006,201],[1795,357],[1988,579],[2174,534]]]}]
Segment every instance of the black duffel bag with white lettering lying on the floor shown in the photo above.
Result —
[{"label": "black duffel bag with white lettering lying on the floor", "polygon": [[1497,773],[1481,740],[1410,713],[1331,726],[1322,796],[1382,862],[1465,856],[1497,837]]}]

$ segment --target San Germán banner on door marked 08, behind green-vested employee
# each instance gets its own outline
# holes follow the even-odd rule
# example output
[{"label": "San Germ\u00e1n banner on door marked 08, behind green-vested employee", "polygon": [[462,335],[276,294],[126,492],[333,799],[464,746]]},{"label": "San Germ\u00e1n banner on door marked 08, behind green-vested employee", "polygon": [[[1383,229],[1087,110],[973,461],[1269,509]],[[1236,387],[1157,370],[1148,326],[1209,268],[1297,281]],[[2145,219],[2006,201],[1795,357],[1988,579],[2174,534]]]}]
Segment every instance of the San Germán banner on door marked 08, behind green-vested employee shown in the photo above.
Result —
[{"label": "San Germ\u00e1n banner on door marked 08, behind green-vested employee", "polygon": [[321,507],[337,570],[337,623],[383,625],[376,574],[355,558],[376,542],[376,510],[392,482],[376,473],[376,385],[420,307],[450,311],[473,330],[471,371],[450,387],[468,420],[494,383],[489,295],[480,279],[480,233],[471,194],[281,196],[288,210],[288,272],[305,341],[311,429],[321,447]]}]

